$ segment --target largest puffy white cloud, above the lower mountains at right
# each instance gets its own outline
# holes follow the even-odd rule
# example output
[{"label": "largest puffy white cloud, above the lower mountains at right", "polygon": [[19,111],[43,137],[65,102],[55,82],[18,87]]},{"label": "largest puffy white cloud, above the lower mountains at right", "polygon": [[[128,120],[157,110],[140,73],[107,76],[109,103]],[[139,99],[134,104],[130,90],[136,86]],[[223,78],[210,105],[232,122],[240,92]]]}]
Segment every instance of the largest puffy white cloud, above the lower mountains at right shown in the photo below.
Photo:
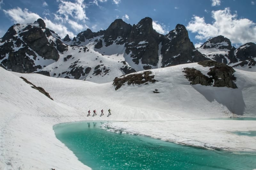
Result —
[{"label": "largest puffy white cloud, above the lower mountains at right", "polygon": [[212,11],[212,24],[206,24],[204,17],[194,16],[188,23],[187,29],[197,33],[196,39],[206,40],[218,35],[230,39],[232,43],[244,44],[256,42],[256,23],[247,18],[237,18],[229,8]]}]

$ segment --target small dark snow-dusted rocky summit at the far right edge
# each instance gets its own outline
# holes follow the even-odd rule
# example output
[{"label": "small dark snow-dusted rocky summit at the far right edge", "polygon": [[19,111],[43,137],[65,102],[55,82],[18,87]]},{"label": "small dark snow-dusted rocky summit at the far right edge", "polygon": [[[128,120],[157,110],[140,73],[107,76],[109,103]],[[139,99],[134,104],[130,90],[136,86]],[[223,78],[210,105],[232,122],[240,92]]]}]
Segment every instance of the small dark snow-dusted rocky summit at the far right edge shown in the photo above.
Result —
[{"label": "small dark snow-dusted rocky summit at the far right edge", "polygon": [[236,58],[240,61],[248,60],[256,57],[256,44],[248,42],[236,50]]}]

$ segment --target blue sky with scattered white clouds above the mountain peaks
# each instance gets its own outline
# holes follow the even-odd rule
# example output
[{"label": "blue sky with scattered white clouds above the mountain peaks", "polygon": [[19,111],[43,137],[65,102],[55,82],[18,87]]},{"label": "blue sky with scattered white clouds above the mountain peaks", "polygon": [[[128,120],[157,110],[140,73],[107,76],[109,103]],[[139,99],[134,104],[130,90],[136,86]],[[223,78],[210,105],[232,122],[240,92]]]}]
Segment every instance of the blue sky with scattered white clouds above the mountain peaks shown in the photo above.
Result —
[{"label": "blue sky with scattered white clouds above the mountain peaks", "polygon": [[37,18],[73,38],[87,28],[105,30],[116,18],[132,25],[150,17],[162,34],[183,24],[195,46],[218,35],[236,47],[256,43],[256,0],[0,0],[0,16],[0,37],[13,24]]}]

